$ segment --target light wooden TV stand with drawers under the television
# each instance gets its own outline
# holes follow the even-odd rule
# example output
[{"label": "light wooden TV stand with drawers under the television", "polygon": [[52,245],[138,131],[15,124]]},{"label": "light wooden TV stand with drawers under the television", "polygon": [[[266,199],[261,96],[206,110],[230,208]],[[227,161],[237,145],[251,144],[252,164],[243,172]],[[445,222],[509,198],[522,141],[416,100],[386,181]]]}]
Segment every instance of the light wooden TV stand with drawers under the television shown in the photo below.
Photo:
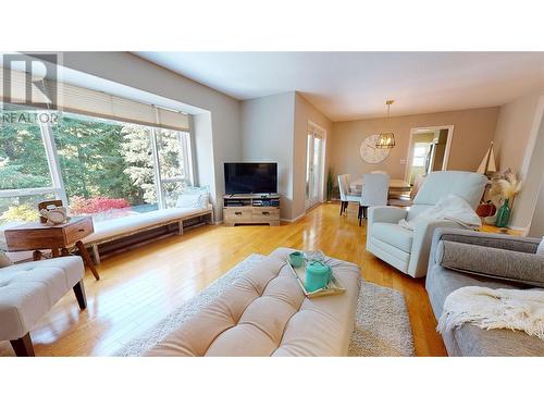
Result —
[{"label": "light wooden TV stand with drawers under the television", "polygon": [[223,222],[280,225],[279,194],[227,194],[223,196]]}]

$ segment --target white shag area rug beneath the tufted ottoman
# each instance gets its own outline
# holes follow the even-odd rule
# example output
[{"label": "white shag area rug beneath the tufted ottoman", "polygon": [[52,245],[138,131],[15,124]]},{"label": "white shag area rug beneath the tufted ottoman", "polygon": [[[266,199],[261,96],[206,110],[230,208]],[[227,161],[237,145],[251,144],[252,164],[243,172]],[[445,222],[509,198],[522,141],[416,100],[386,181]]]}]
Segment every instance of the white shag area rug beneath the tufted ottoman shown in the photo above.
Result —
[{"label": "white shag area rug beneath the tufted ottoman", "polygon": [[[168,334],[218,298],[238,276],[265,258],[252,254],[197,296],[169,314],[145,335],[137,337],[114,356],[139,357]],[[356,327],[349,344],[350,357],[416,356],[410,320],[404,295],[395,289],[362,280],[357,305]]]}]

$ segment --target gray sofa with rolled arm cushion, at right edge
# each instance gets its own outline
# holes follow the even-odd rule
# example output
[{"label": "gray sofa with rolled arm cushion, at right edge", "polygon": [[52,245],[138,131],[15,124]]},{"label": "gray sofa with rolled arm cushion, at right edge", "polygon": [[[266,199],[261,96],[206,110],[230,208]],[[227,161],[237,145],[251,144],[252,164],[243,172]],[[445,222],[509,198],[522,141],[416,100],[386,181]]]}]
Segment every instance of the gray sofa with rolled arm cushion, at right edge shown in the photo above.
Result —
[{"label": "gray sofa with rolled arm cushion, at right edge", "polygon": [[[455,243],[455,244],[449,244]],[[461,245],[459,245],[461,244]],[[425,287],[440,319],[446,297],[463,286],[530,288],[544,282],[544,257],[536,256],[540,239],[473,231],[438,228],[433,236]],[[467,245],[471,246],[468,248]],[[445,248],[457,250],[445,261]],[[457,248],[456,248],[457,247]],[[471,249],[470,252],[467,249]],[[461,256],[463,254],[466,256]],[[469,255],[472,254],[472,255]],[[500,260],[500,257],[508,257]],[[498,276],[497,276],[498,275]],[[442,333],[449,356],[544,356],[544,341],[524,332],[483,330],[472,324]]]}]

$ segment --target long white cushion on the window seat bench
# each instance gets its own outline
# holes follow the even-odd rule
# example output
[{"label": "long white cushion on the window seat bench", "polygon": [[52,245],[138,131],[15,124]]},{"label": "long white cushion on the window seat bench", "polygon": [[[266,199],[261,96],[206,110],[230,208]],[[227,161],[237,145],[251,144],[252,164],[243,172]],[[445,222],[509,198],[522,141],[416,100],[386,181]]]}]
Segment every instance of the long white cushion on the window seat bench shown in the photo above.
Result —
[{"label": "long white cushion on the window seat bench", "polygon": [[174,222],[182,218],[196,217],[211,210],[200,208],[168,208],[144,212],[141,214],[123,217],[114,220],[95,223],[95,232],[83,239],[85,244],[110,239],[120,235],[131,234],[135,231],[149,228],[153,225]]}]

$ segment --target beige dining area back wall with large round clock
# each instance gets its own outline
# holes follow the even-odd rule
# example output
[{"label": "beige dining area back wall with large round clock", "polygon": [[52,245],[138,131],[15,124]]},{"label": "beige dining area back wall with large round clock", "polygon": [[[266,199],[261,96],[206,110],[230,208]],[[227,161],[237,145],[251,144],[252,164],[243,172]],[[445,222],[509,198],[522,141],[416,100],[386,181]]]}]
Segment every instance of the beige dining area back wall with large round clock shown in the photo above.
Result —
[{"label": "beige dining area back wall with large round clock", "polygon": [[[373,170],[385,170],[393,178],[404,178],[408,144],[412,127],[454,125],[448,170],[475,171],[495,134],[498,108],[469,109],[333,123],[331,165],[336,174],[360,176]],[[387,159],[368,164],[359,154],[361,141],[383,131],[395,133],[396,146]]]}]

